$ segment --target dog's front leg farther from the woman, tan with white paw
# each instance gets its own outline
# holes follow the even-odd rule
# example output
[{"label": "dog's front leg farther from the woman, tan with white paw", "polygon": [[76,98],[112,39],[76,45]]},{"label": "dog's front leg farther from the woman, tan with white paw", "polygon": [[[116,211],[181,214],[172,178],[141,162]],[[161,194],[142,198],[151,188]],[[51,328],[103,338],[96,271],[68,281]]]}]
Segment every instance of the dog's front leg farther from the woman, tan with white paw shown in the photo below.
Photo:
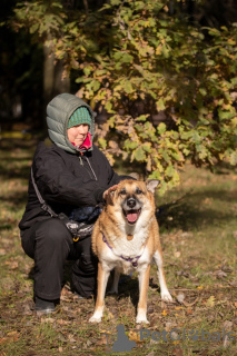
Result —
[{"label": "dog's front leg farther from the woman, tan with white paw", "polygon": [[149,287],[150,265],[139,271],[139,301],[136,323],[149,324],[147,320],[147,291]]}]

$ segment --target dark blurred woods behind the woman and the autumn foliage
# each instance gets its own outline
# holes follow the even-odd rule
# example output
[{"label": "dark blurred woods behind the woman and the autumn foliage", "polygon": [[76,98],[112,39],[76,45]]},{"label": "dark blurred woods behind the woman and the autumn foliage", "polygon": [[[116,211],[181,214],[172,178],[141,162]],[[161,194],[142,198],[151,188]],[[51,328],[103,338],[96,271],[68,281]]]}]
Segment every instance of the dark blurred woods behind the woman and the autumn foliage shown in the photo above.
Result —
[{"label": "dark blurred woods behind the woman and the autumn foliage", "polygon": [[[80,89],[80,83],[75,81],[80,75],[80,69],[77,75],[71,71],[69,77],[62,79],[66,59],[56,59],[53,50],[45,46],[46,37],[49,33],[53,36],[53,28],[52,23],[48,22],[48,29],[45,28],[43,32],[39,32],[41,29],[37,28],[36,23],[41,21],[43,9],[45,13],[49,14],[57,14],[60,10],[67,16],[67,22],[70,22],[75,19],[72,13],[83,17],[88,12],[98,11],[108,2],[103,0],[1,1],[0,122],[2,131],[12,129],[16,122],[32,129],[42,128],[45,105],[60,92],[76,93]],[[170,18],[187,18],[194,27],[208,26],[219,29],[237,22],[237,3],[234,0],[158,2],[164,7],[168,6],[164,12]],[[61,4],[61,8],[56,7],[57,3]],[[118,6],[119,1],[113,3]],[[33,9],[32,6],[34,6]],[[30,19],[29,11],[33,11],[33,19]],[[80,26],[80,18],[78,18],[78,24]],[[107,26],[109,27],[108,22]],[[61,37],[63,36],[65,33],[61,33]],[[55,39],[60,40],[58,28],[55,28]],[[208,38],[206,40],[208,41]]]}]

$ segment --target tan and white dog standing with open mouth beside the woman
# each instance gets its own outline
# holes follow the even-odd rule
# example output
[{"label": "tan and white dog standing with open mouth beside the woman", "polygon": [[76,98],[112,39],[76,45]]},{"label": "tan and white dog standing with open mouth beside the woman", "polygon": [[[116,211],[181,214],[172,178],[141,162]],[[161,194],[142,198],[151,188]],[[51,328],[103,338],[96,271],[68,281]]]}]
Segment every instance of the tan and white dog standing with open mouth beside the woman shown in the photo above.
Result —
[{"label": "tan and white dog standing with open mouth beside the woman", "polygon": [[161,299],[171,301],[162,269],[159,228],[155,216],[154,192],[159,180],[146,182],[126,179],[106,196],[106,206],[95,224],[92,251],[98,257],[98,286],[95,313],[90,323],[100,323],[110,271],[115,268],[110,293],[118,294],[120,273],[138,271],[139,301],[136,323],[147,320],[147,291],[150,263],[158,267]]}]

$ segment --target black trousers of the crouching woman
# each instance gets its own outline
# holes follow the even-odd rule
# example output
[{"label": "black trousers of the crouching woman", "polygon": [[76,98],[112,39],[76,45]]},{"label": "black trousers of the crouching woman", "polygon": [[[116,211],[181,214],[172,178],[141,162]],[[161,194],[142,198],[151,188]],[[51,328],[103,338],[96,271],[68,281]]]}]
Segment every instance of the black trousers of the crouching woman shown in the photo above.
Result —
[{"label": "black trousers of the crouching woman", "polygon": [[34,260],[34,296],[48,300],[60,298],[67,259],[75,260],[73,289],[82,297],[95,294],[98,260],[92,255],[90,236],[75,243],[65,224],[51,218],[21,231],[21,244]]}]

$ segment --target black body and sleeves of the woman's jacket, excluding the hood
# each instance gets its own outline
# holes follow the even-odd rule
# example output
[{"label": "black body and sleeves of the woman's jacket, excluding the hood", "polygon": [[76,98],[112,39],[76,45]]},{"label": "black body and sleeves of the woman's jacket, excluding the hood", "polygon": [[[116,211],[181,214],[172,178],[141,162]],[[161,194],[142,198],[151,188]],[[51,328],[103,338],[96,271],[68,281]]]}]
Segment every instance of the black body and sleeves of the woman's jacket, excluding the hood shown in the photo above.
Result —
[{"label": "black body and sleeves of the woman's jacket, excluding the hood", "polygon": [[[51,144],[40,142],[33,162],[33,177],[37,187],[48,205],[57,212],[69,215],[81,206],[96,206],[102,202],[102,194],[120,180],[130,178],[118,176],[106,156],[93,145],[83,156],[70,154]],[[31,178],[28,204],[19,228],[24,230],[33,222],[50,218],[40,207]]]}]

